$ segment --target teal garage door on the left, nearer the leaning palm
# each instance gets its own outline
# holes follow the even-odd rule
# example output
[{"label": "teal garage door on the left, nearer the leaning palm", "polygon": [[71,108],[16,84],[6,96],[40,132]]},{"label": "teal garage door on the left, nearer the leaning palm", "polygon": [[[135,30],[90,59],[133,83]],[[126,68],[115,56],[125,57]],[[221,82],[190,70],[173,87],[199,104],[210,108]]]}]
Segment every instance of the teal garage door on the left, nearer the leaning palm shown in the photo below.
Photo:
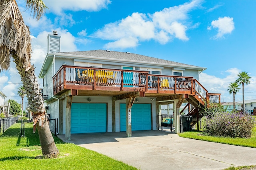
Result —
[{"label": "teal garage door on the left, nearer the leaning palm", "polygon": [[71,133],[107,131],[106,103],[72,103]]}]

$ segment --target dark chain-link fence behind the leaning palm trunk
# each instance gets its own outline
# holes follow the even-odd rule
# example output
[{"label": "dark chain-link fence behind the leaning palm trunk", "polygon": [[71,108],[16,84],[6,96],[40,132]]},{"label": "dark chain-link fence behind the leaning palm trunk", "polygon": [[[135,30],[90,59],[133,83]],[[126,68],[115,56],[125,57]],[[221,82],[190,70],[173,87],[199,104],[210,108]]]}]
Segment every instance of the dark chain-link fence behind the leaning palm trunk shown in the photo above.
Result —
[{"label": "dark chain-link fence behind the leaning palm trunk", "polygon": [[[25,136],[25,129],[31,128],[32,124],[32,120],[19,120],[18,117],[0,119],[0,137]],[[58,132],[58,119],[50,119],[49,127],[51,132],[56,136]]]}]

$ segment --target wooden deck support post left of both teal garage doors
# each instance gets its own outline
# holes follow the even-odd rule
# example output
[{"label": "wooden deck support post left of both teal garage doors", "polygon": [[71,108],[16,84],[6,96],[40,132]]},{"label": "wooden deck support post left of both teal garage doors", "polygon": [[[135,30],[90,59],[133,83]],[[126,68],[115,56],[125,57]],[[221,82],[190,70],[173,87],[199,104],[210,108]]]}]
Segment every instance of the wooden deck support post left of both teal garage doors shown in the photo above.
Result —
[{"label": "wooden deck support post left of both teal garage doors", "polygon": [[66,97],[66,133],[65,140],[71,140],[71,104],[73,96]]}]

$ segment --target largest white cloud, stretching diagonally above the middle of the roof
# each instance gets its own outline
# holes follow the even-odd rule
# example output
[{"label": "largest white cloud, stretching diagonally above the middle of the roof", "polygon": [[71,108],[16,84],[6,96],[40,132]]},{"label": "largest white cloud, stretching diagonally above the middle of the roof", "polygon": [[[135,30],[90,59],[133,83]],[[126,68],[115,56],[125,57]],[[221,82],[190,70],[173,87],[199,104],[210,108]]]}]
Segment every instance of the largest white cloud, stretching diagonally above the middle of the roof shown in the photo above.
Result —
[{"label": "largest white cloud, stretching diagonally above the middle of the roof", "polygon": [[161,44],[174,38],[187,41],[189,38],[186,31],[198,26],[190,26],[191,22],[187,21],[188,13],[199,8],[201,3],[202,1],[192,1],[147,15],[136,12],[120,21],[106,24],[92,34],[92,37],[113,41],[105,45],[112,49],[136,47],[139,42],[147,40],[156,40]]}]

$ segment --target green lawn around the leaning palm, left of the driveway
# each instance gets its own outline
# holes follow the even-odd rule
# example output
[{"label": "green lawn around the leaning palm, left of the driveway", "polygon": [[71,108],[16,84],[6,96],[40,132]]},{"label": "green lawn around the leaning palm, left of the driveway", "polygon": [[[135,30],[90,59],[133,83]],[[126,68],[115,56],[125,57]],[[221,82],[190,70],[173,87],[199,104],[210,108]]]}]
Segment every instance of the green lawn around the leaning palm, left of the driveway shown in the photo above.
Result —
[{"label": "green lawn around the leaning palm, left of the driveway", "polygon": [[[36,159],[42,155],[38,133],[32,133],[32,123],[26,124],[25,137],[19,137],[8,129],[0,136],[1,170],[135,170],[123,162],[92,150],[62,142],[54,137],[60,151],[58,158]],[[13,128],[14,129],[14,128]]]}]

